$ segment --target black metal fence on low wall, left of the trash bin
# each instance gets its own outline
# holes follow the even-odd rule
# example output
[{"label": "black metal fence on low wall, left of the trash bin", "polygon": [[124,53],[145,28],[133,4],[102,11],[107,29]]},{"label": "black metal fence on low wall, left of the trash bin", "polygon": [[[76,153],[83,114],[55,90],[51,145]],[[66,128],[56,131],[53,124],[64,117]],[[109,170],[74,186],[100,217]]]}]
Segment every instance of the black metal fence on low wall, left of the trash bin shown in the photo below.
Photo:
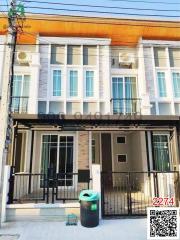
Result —
[{"label": "black metal fence on low wall, left of the trash bin", "polygon": [[47,174],[11,171],[8,204],[78,200],[80,191],[89,189],[91,180],[79,179],[79,173],[56,173],[51,169]]}]

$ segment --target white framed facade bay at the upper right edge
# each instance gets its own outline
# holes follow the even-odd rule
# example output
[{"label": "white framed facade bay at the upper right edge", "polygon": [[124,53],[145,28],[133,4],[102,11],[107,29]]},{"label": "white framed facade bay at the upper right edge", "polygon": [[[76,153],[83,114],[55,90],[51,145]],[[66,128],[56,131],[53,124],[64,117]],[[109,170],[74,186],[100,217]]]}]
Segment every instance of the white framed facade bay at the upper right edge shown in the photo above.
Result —
[{"label": "white framed facade bay at the upper right edge", "polygon": [[[156,115],[180,115],[180,98],[174,96],[174,85],[172,73],[180,73],[180,67],[170,66],[169,49],[176,48],[180,51],[180,42],[178,41],[155,41],[143,40],[141,42],[144,48],[145,79],[147,92],[150,97],[151,114]],[[165,49],[165,66],[155,66],[154,49]],[[157,72],[165,73],[166,97],[160,97]]]}]

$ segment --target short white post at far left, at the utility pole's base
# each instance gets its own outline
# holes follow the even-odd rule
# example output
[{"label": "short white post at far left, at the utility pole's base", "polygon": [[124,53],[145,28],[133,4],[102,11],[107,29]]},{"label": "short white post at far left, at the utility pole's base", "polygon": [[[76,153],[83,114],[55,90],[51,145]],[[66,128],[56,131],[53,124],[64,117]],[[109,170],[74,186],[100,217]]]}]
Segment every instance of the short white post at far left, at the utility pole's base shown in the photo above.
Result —
[{"label": "short white post at far left, at the utility pole's base", "polygon": [[3,191],[2,191],[2,209],[1,209],[1,223],[6,221],[6,205],[8,201],[9,193],[9,178],[10,178],[10,169],[9,165],[4,167],[4,181],[3,181]]}]

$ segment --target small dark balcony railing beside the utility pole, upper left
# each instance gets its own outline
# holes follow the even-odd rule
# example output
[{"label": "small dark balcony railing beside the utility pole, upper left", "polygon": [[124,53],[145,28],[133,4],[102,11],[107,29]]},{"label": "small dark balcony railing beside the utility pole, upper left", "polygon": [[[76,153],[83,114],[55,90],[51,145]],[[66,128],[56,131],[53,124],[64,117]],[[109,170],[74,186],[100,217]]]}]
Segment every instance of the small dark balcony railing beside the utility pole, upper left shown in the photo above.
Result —
[{"label": "small dark balcony railing beside the utility pole, upper left", "polygon": [[29,97],[11,97],[11,111],[13,113],[27,113]]}]

